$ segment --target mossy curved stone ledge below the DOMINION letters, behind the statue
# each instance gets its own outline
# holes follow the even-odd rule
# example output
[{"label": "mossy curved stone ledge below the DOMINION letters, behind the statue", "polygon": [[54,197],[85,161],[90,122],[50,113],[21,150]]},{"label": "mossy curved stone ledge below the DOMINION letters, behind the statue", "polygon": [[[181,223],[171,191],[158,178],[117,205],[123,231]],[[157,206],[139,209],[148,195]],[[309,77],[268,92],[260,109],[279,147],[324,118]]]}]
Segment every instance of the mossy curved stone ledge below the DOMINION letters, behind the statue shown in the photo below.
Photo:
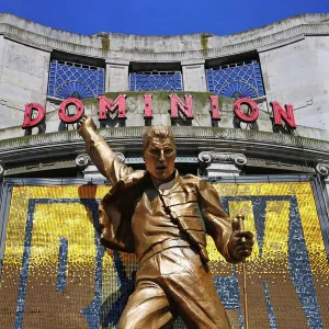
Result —
[{"label": "mossy curved stone ledge below the DOMINION letters, behind the statue", "polygon": [[[141,136],[147,127],[104,128],[100,134],[116,150],[141,150]],[[248,156],[271,156],[329,163],[329,143],[265,132],[212,128],[172,127],[179,150],[239,150]],[[82,151],[84,143],[77,132],[32,135],[0,141],[0,161],[15,162],[46,157],[60,158]]]}]

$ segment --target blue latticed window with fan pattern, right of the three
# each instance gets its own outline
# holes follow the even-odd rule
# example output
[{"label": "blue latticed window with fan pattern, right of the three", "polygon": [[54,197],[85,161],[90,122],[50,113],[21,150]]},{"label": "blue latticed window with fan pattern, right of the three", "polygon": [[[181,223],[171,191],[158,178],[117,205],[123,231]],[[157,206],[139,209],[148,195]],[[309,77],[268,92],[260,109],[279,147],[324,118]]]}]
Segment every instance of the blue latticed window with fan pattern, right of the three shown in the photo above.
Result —
[{"label": "blue latticed window with fan pattern, right of the three", "polygon": [[236,63],[206,70],[208,91],[228,98],[253,99],[264,95],[257,60]]}]

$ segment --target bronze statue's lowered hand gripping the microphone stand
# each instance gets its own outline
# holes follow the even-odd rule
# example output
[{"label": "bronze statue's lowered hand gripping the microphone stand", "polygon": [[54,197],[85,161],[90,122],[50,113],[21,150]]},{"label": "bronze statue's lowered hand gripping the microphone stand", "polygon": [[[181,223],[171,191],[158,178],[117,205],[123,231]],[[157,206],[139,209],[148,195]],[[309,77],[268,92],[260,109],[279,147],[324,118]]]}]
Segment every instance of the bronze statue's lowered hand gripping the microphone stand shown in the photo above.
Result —
[{"label": "bronze statue's lowered hand gripping the microphone stand", "polygon": [[232,259],[242,260],[251,254],[253,234],[249,230],[241,230],[239,219],[231,222],[232,232],[228,241],[228,252]]}]

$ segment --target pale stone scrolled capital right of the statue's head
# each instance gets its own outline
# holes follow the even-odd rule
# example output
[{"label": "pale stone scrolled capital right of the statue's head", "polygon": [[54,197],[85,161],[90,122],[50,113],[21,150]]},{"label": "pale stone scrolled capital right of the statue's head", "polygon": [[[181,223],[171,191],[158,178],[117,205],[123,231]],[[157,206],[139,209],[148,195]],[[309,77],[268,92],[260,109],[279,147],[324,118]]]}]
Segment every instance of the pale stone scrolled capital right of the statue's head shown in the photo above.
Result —
[{"label": "pale stone scrolled capital right of the statue's head", "polygon": [[220,154],[204,151],[198,155],[202,175],[227,177],[239,175],[247,158],[242,154]]}]

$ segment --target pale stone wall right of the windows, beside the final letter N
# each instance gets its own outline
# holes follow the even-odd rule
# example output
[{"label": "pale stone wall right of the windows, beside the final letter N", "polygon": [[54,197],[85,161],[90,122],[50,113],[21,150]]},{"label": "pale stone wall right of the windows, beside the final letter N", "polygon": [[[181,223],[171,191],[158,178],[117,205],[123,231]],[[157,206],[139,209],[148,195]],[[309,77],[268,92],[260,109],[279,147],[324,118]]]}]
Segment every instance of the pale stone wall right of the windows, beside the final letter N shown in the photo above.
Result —
[{"label": "pale stone wall right of the windows, beside the final letter N", "polygon": [[268,101],[294,105],[299,135],[329,139],[329,36],[261,52],[260,61]]}]

